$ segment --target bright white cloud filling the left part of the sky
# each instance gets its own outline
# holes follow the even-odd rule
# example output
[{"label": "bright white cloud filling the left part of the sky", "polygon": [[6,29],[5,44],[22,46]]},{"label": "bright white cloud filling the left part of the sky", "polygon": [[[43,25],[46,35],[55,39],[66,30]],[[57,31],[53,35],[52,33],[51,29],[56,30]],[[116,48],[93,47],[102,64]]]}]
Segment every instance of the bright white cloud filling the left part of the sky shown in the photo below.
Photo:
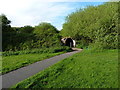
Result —
[{"label": "bright white cloud filling the left part of the sky", "polygon": [[54,23],[58,16],[65,16],[65,13],[72,9],[65,4],[38,0],[3,0],[0,8],[0,13],[7,15],[12,26]]}]

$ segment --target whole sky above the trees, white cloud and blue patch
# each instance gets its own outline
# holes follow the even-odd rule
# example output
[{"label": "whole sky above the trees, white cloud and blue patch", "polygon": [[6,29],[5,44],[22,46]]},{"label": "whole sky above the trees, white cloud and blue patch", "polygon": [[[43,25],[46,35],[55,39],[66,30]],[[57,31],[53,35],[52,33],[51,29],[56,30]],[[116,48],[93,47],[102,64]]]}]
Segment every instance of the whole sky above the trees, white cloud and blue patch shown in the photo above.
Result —
[{"label": "whole sky above the trees, white cloud and blue patch", "polygon": [[[57,1],[57,2],[56,2]],[[84,2],[83,2],[84,1]],[[11,26],[36,26],[48,22],[62,29],[65,17],[79,8],[100,5],[108,0],[0,0],[0,14],[12,21]],[[92,2],[94,1],[94,2]],[[102,2],[101,2],[102,1]]]}]

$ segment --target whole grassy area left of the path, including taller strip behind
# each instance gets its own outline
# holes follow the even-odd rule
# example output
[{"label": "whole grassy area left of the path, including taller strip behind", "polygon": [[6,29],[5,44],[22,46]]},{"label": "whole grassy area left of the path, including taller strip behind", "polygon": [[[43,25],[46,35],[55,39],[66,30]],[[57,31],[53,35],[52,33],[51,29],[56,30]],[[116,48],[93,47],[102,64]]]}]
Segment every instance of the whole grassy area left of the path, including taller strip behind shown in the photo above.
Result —
[{"label": "whole grassy area left of the path, including taller strip behind", "polygon": [[70,48],[57,47],[17,52],[3,52],[1,72],[2,74],[5,74],[20,67],[65,53],[67,51],[71,51]]}]

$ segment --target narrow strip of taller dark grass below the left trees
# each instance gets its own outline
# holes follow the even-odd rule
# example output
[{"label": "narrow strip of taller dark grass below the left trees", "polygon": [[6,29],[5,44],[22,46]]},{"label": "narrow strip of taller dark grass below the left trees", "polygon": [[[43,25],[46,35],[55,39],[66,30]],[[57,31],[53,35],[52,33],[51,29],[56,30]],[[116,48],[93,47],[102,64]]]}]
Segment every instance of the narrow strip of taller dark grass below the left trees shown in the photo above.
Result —
[{"label": "narrow strip of taller dark grass below the left trees", "polygon": [[51,48],[36,48],[32,50],[22,50],[22,51],[6,51],[2,52],[2,56],[11,56],[11,55],[22,55],[22,54],[37,54],[37,53],[57,53],[57,52],[69,52],[72,51],[70,47],[59,46],[59,47],[51,47]]}]

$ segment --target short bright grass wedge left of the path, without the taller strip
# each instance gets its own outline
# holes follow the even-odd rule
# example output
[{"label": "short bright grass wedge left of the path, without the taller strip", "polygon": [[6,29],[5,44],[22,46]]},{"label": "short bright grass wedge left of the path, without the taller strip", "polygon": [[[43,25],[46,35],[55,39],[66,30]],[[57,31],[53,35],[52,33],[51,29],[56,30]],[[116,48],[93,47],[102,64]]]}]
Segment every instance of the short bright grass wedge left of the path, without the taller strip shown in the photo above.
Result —
[{"label": "short bright grass wedge left of the path, without the taller strip", "polygon": [[2,74],[18,69],[20,67],[32,64],[37,61],[50,58],[62,54],[64,52],[57,53],[35,53],[35,54],[22,54],[22,55],[11,55],[2,57]]}]

